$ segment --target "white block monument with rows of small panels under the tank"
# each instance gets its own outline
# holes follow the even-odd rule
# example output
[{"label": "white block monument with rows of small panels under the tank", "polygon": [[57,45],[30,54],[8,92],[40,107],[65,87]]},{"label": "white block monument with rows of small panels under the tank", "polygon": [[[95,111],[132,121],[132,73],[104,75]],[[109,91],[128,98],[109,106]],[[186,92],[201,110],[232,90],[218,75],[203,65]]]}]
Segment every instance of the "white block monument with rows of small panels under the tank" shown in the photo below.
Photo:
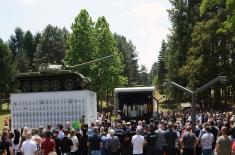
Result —
[{"label": "white block monument with rows of small panels under the tank", "polygon": [[96,93],[89,90],[13,93],[12,127],[38,128],[84,119],[90,125],[97,119]]}]

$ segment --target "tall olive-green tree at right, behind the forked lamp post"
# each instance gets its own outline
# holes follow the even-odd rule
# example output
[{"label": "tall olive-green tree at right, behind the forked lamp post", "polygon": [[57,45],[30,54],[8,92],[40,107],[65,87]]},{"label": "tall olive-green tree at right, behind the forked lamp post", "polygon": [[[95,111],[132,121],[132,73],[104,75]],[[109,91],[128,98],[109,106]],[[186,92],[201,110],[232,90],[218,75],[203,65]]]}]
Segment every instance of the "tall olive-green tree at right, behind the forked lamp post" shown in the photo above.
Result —
[{"label": "tall olive-green tree at right, behind the forked lamp post", "polygon": [[[218,8],[218,5],[222,8]],[[181,74],[188,79],[188,86],[195,89],[217,75],[228,75],[228,59],[225,36],[219,32],[226,19],[225,3],[219,0],[204,0],[201,13],[204,19],[198,22],[192,33],[192,46],[187,64]],[[223,68],[223,69],[222,69]]]}]

